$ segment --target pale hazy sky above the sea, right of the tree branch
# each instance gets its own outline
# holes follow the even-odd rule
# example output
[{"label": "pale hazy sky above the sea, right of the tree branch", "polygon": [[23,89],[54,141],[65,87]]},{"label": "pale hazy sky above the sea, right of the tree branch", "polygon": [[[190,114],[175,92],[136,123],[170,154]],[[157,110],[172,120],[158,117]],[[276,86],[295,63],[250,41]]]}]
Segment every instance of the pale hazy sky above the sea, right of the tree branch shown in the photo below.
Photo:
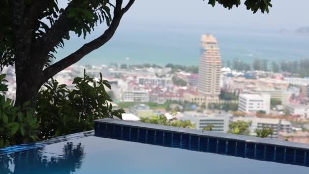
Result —
[{"label": "pale hazy sky above the sea, right of the tree branch", "polygon": [[273,0],[269,14],[253,14],[243,5],[231,10],[202,0],[136,0],[121,28],[199,27],[243,29],[295,29],[309,25],[309,1]]}]

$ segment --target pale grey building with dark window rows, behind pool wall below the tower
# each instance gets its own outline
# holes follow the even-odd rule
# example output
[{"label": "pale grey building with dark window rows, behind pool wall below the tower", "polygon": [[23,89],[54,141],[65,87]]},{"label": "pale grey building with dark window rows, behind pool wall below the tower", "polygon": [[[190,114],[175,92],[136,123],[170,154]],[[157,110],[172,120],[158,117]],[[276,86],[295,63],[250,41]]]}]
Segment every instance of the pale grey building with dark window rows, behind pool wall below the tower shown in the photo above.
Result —
[{"label": "pale grey building with dark window rows, behind pool wall below the tower", "polygon": [[206,114],[195,111],[186,111],[178,120],[190,120],[195,124],[195,129],[202,130],[207,125],[213,125],[212,131],[228,132],[230,118],[232,115],[226,114]]}]

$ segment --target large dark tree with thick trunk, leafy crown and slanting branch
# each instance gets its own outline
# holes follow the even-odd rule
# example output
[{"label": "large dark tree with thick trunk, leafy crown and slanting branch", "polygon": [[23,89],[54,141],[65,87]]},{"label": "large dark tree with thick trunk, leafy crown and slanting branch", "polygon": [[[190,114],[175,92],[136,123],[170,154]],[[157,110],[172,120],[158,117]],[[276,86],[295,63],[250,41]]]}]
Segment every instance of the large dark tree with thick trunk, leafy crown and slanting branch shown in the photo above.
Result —
[{"label": "large dark tree with thick trunk, leafy crown and slanting branch", "polygon": [[[72,0],[63,9],[57,0],[1,1],[0,68],[15,65],[16,104],[34,102],[48,79],[109,41],[133,3],[134,0],[127,5],[122,0],[114,4],[109,0]],[[49,65],[56,49],[63,48],[64,40],[70,39],[70,33],[85,38],[101,23],[108,26],[101,36]]]}]

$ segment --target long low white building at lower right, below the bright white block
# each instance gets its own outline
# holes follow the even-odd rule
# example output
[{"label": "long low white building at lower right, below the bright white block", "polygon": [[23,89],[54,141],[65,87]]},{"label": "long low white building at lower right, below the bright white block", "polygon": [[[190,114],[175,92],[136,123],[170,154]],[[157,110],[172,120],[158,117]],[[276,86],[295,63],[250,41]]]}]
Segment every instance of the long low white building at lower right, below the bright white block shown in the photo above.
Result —
[{"label": "long low white building at lower right, below the bright white block", "polygon": [[233,117],[233,122],[243,121],[251,122],[249,127],[250,135],[256,136],[255,130],[262,129],[263,126],[272,128],[272,135],[269,135],[269,138],[276,139],[280,131],[290,133],[292,131],[292,124],[285,120],[280,119],[266,119],[266,118],[257,118],[257,117]]}]

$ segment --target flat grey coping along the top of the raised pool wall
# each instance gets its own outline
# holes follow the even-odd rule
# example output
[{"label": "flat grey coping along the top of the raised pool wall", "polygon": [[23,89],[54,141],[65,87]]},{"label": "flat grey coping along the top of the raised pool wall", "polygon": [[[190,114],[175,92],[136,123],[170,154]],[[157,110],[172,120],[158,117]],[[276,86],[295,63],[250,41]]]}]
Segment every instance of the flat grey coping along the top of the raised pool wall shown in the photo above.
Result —
[{"label": "flat grey coping along the top of the raised pool wall", "polygon": [[309,150],[309,144],[276,140],[276,139],[270,139],[270,138],[259,138],[259,137],[254,137],[254,136],[235,135],[235,134],[228,134],[228,133],[221,133],[221,132],[214,132],[214,131],[201,131],[201,130],[195,130],[195,129],[189,129],[189,128],[180,128],[180,127],[157,125],[157,124],[134,122],[134,121],[123,121],[123,120],[109,119],[109,118],[95,120],[95,123],[104,123],[104,124],[112,124],[112,125],[118,125],[118,126],[129,126],[129,127],[135,127],[135,128],[151,129],[151,130],[158,130],[158,131],[168,131],[168,132],[181,133],[181,134],[222,138],[222,139],[228,139],[228,140],[252,142],[256,144],[264,144],[264,145],[284,147],[284,148],[293,148],[293,149],[300,149],[300,150],[306,150],[306,151]]}]

